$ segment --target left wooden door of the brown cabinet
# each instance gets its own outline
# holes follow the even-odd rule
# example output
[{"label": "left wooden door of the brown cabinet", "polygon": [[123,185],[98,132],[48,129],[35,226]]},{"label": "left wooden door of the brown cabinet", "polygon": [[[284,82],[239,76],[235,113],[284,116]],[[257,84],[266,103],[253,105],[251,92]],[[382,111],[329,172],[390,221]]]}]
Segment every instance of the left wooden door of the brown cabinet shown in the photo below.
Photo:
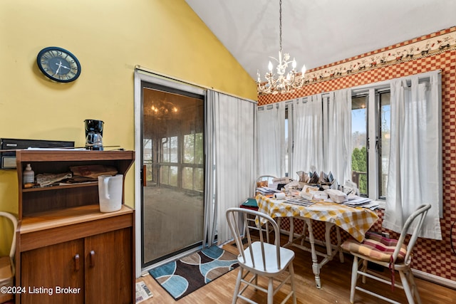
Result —
[{"label": "left wooden door of the brown cabinet", "polygon": [[84,303],[83,240],[21,253],[23,304]]}]

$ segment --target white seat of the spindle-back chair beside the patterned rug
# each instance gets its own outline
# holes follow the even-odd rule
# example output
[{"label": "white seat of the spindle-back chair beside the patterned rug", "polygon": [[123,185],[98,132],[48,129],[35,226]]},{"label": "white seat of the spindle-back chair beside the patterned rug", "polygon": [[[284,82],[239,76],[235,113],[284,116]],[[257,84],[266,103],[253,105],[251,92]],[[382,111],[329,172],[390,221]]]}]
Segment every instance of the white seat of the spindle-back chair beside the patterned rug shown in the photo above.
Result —
[{"label": "white seat of the spindle-back chair beside the patterned rug", "polygon": [[[280,267],[277,267],[277,258],[276,258],[276,245],[270,243],[263,243],[264,245],[264,258],[265,258],[265,266],[266,268],[263,269],[264,273],[279,273],[283,271],[284,268],[288,266],[288,264],[293,261],[294,259],[294,251],[280,247]],[[256,262],[256,267],[254,267],[252,258],[250,256],[250,248],[244,250],[246,261],[244,263],[241,256],[238,257],[239,263],[241,263],[244,267],[249,268],[251,271],[255,273],[259,272],[259,268],[262,268],[262,257],[261,257],[261,242],[257,241],[252,243],[252,251],[254,253],[254,261]]]}]

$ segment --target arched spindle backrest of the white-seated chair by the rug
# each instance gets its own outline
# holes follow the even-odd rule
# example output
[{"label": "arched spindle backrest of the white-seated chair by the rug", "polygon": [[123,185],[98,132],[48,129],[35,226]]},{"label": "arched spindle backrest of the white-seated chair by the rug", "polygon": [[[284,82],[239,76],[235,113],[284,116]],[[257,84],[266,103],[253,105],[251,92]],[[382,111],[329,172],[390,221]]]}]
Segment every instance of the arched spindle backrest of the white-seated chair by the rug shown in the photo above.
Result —
[{"label": "arched spindle backrest of the white-seated chair by the rug", "polygon": [[[264,240],[263,234],[267,234],[267,228],[266,228],[266,223],[269,226],[272,226],[274,229],[274,246],[275,248],[275,256],[276,256],[276,267],[277,269],[280,268],[280,233],[279,233],[279,226],[277,226],[276,221],[271,218],[271,216],[268,216],[267,214],[264,214],[259,211],[254,211],[250,209],[244,209],[244,208],[229,208],[226,211],[226,216],[227,216],[227,222],[229,225],[229,229],[231,229],[234,241],[236,241],[236,246],[239,251],[239,258],[242,258],[242,260],[239,260],[239,262],[246,263],[247,261],[252,261],[253,267],[262,270],[266,270],[266,254],[268,254],[268,260],[271,261],[271,251],[269,253],[266,253],[265,251],[265,243],[266,241]],[[259,248],[261,248],[261,255],[254,254],[252,250],[252,236],[250,234],[250,229],[246,229],[246,235],[242,236],[241,231],[244,231],[243,225],[247,225],[247,217],[248,216],[256,216],[257,217],[257,228],[259,229]],[[244,250],[244,243],[243,239],[247,239],[247,246],[249,248],[248,251]],[[271,244],[266,244],[266,246],[271,246]],[[255,248],[258,248],[256,246]],[[271,266],[269,263],[268,266]],[[275,268],[275,265],[274,265]]]}]

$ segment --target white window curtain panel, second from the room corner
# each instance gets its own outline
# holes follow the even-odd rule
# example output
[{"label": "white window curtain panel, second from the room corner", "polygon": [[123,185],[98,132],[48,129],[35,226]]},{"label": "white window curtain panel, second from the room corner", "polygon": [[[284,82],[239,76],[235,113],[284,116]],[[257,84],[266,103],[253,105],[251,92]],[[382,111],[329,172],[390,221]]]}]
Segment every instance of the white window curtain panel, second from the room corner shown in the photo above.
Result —
[{"label": "white window curtain panel, second from the room corner", "polygon": [[296,172],[323,169],[323,102],[321,94],[299,99],[293,105],[294,150],[290,177]]}]

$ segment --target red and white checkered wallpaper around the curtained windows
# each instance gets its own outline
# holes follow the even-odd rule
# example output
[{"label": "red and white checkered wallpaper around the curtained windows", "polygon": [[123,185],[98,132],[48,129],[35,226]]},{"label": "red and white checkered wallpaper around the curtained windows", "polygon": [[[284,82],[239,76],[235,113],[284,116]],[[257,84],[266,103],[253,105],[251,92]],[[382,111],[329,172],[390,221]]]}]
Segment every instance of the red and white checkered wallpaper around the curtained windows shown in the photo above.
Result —
[{"label": "red and white checkered wallpaper around the curtained windows", "polygon": [[[443,31],[432,33],[410,41],[398,43],[394,46],[382,48],[360,56],[346,59],[338,63],[325,65],[321,68],[311,70],[311,73],[317,73],[319,70],[328,70],[331,67],[337,67],[341,64],[350,62],[361,62],[363,58],[375,56],[376,54],[393,51],[398,48],[410,49],[414,43],[426,45],[427,42],[436,43],[443,41],[446,37],[455,37],[456,26]],[[448,40],[449,38],[447,38]],[[267,105],[278,103],[283,100],[292,100],[304,96],[314,95],[322,92],[340,90],[342,88],[352,88],[358,85],[376,83],[383,80],[400,78],[403,76],[428,72],[430,70],[442,70],[442,167],[443,167],[443,218],[440,220],[442,229],[442,241],[430,239],[419,239],[415,247],[413,256],[413,268],[430,273],[434,276],[456,281],[456,254],[452,252],[456,248],[456,231],[453,235],[450,233],[451,225],[456,221],[456,41],[450,41],[450,46],[435,49],[424,56],[407,58],[402,61],[392,61],[384,65],[378,64],[372,68],[358,70],[356,73],[343,75],[342,77],[333,77],[309,83],[294,93],[277,94],[277,95],[260,95],[258,105]],[[374,231],[385,231],[381,226],[383,219],[383,210],[378,210],[380,221],[374,226]],[[288,222],[284,223],[283,228],[288,228]],[[298,225],[297,229],[301,229]],[[314,232],[317,236],[324,236],[324,228],[316,225]],[[397,234],[390,232],[391,236]],[[347,234],[343,234],[346,238]],[[336,240],[333,240],[336,241]]]}]

